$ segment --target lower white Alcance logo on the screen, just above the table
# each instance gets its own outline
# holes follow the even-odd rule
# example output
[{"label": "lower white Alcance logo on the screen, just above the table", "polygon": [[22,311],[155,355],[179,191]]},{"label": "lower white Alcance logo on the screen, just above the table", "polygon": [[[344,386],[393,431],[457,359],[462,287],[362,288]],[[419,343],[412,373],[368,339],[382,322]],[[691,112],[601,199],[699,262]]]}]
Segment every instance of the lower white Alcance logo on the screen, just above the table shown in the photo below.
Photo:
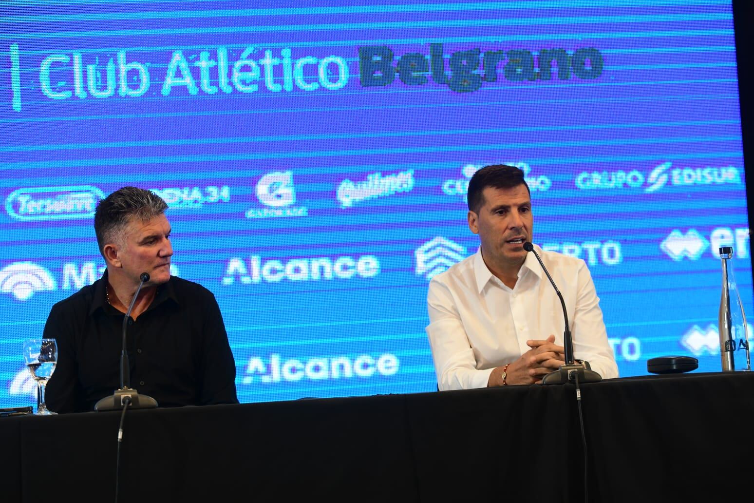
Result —
[{"label": "lower white Alcance logo on the screen, just above the table", "polygon": [[380,354],[372,357],[361,354],[351,358],[347,356],[313,357],[308,360],[289,358],[283,360],[280,354],[271,354],[268,363],[261,357],[250,357],[245,385],[253,382],[271,384],[276,382],[297,382],[302,379],[321,381],[325,379],[363,379],[378,376],[393,376],[398,372],[400,361],[394,354]]}]

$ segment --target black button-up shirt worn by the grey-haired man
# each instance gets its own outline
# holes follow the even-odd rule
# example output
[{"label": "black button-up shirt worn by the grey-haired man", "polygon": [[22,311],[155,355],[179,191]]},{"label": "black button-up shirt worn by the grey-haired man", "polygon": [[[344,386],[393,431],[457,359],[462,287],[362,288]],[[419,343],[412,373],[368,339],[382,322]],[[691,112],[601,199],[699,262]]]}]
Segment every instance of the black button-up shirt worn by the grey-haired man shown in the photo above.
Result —
[{"label": "black button-up shirt worn by the grey-haired man", "polygon": [[[124,314],[107,302],[107,272],[55,304],[44,337],[57,340],[46,403],[57,413],[94,409],[120,388]],[[238,403],[235,363],[210,290],[170,277],[127,328],[130,385],[159,406]]]}]

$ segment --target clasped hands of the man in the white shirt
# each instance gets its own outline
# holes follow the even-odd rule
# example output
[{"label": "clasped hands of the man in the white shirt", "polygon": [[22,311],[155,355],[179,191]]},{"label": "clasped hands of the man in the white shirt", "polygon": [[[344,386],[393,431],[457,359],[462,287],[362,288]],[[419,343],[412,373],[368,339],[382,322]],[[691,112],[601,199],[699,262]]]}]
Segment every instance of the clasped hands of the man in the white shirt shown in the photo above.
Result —
[{"label": "clasped hands of the man in the white shirt", "polygon": [[[549,336],[544,341],[529,340],[526,341],[526,345],[531,349],[508,365],[505,379],[508,385],[536,384],[566,363],[566,348],[555,344],[555,336]],[[487,387],[502,386],[502,373],[503,367],[492,370]]]}]

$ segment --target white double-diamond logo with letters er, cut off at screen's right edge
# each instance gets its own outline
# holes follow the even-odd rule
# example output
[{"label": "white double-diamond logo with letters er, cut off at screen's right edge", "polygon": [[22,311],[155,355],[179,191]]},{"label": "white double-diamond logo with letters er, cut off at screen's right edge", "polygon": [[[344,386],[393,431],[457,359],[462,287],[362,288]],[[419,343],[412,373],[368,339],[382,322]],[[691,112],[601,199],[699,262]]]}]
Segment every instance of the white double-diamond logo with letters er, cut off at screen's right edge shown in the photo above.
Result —
[{"label": "white double-diamond logo with letters er, cut off at screen's right edge", "polygon": [[734,247],[738,259],[748,259],[749,228],[717,227],[710,232],[709,240],[695,228],[686,232],[676,228],[660,243],[660,249],[676,262],[698,260],[708,247],[716,259],[720,258],[720,247]]}]

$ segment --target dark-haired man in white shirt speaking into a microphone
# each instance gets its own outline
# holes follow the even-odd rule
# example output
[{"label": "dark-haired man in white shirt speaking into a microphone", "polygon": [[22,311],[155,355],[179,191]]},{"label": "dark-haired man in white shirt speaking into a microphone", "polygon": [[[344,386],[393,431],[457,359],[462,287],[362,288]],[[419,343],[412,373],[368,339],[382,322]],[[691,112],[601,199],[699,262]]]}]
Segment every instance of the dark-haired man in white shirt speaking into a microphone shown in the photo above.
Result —
[{"label": "dark-haired man in white shirt speaking into a microphone", "polygon": [[[523,171],[493,165],[474,173],[468,225],[474,256],[432,278],[427,327],[441,391],[541,382],[564,362],[560,301],[533,253],[532,201]],[[535,245],[566,302],[574,357],[602,379],[618,377],[599,298],[584,260]]]}]

